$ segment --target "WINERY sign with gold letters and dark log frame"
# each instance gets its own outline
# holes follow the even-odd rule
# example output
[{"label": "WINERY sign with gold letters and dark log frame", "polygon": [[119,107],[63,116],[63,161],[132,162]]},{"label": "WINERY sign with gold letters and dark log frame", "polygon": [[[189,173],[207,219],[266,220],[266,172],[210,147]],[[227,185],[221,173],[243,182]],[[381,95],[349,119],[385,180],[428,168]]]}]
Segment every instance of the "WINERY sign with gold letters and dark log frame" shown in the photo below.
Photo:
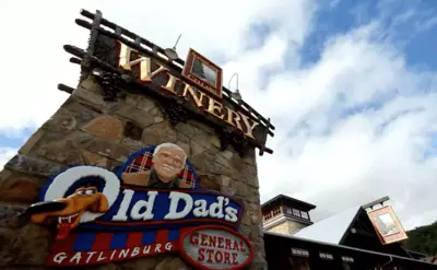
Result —
[{"label": "WINERY sign with gold letters and dark log frame", "polygon": [[223,87],[222,69],[200,52],[190,49],[186,61],[172,60],[164,49],[105,20],[95,19],[92,25],[78,23],[91,28],[88,49],[64,48],[83,59],[82,77],[94,77],[104,101],[122,98],[123,92],[146,95],[161,103],[174,125],[197,119],[212,127],[222,149],[233,145],[241,154],[252,148],[258,148],[260,155],[273,153],[265,146],[268,136],[273,136],[270,120]]}]

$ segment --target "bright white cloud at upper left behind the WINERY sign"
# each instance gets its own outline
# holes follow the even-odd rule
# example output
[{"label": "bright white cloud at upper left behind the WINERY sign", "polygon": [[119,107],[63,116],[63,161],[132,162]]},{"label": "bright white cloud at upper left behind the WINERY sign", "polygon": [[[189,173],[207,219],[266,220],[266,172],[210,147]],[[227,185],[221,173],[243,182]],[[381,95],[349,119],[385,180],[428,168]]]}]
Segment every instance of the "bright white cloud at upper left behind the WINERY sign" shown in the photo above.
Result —
[{"label": "bright white cloud at upper left behind the WINERY sign", "polygon": [[[8,43],[1,71],[8,74],[2,89],[8,98],[0,101],[0,131],[37,127],[67,98],[56,90],[58,83],[75,86],[79,68],[69,63],[64,44],[85,48],[88,32],[74,23],[85,8],[102,10],[105,17],[163,47],[172,47],[178,34],[178,51],[184,58],[190,46],[221,60],[240,55],[248,26],[258,22],[277,25],[283,38],[302,42],[312,14],[311,1],[257,0],[222,1],[3,1],[0,23]],[[23,9],[22,5],[26,9]],[[306,11],[308,10],[308,11]],[[20,20],[17,14],[20,13]],[[284,22],[286,24],[284,25]],[[299,25],[293,31],[287,26]],[[225,75],[227,71],[224,72]],[[44,104],[44,106],[42,106]],[[11,131],[9,131],[11,132]]]}]

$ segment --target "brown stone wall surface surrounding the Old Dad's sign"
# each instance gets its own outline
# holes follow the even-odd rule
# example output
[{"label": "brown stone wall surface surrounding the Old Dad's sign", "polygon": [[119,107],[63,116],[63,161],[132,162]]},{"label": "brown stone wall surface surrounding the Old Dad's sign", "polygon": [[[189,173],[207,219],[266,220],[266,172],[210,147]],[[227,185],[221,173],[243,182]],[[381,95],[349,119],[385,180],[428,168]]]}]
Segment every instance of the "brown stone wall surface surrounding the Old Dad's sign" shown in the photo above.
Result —
[{"label": "brown stone wall surface surrounding the Old Dad's sign", "polygon": [[[72,164],[114,169],[141,148],[175,142],[188,154],[201,188],[234,195],[245,203],[240,232],[253,245],[250,269],[267,269],[255,150],[245,157],[231,146],[221,151],[217,134],[199,121],[173,127],[149,97],[129,94],[105,103],[93,79],[84,80],[0,173],[0,267],[46,269],[55,231],[20,214],[38,200],[40,187],[51,175]],[[190,268],[177,255],[163,255],[83,269]]]}]

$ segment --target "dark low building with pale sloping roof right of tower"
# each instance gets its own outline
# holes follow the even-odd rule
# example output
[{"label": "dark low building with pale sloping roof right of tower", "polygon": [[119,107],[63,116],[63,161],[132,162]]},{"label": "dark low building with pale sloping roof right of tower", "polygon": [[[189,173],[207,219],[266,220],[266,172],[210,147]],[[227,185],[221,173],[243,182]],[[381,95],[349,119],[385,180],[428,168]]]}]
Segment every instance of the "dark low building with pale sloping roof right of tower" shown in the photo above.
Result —
[{"label": "dark low building with pale sloping roof right of tower", "polygon": [[[305,202],[277,196],[263,204],[262,212],[271,213],[277,206],[291,206],[293,201],[305,207]],[[426,255],[406,250],[401,242],[382,245],[364,207],[351,208],[292,233],[279,232],[269,225],[270,220],[287,215],[281,211],[275,215],[279,218],[268,219],[268,225],[264,223],[269,269],[437,269],[437,265],[424,260]],[[287,222],[292,222],[291,219],[296,220],[287,216]]]}]

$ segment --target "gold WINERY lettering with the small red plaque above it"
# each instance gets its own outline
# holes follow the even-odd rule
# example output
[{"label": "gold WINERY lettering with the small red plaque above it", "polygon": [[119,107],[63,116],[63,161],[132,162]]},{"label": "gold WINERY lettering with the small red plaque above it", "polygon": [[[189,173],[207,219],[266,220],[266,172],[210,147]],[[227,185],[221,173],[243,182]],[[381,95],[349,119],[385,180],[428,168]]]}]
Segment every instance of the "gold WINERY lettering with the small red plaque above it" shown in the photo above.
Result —
[{"label": "gold WINERY lettering with the small red plaque above it", "polygon": [[[253,121],[250,117],[245,115],[241,111],[236,111],[232,109],[231,107],[225,106],[222,102],[220,102],[220,98],[217,98],[218,92],[217,89],[215,89],[215,92],[213,92],[210,89],[208,92],[214,93],[214,97],[205,94],[202,91],[199,91],[198,89],[194,89],[192,85],[184,82],[182,80],[178,79],[175,77],[175,74],[170,73],[170,70],[167,69],[166,67],[162,66],[157,61],[152,61],[150,57],[145,57],[142,55],[139,55],[138,51],[133,50],[132,48],[128,47],[121,42],[117,42],[119,46],[119,55],[118,55],[118,62],[117,66],[120,69],[123,70],[134,70],[139,75],[137,81],[140,83],[152,83],[156,82],[157,85],[162,85],[161,89],[165,91],[166,93],[175,96],[182,96],[188,101],[191,101],[192,104],[198,107],[199,109],[203,109],[208,114],[214,116],[215,118],[223,120],[227,122],[228,125],[237,128],[238,130],[241,130],[244,134],[248,138],[256,139],[257,132],[255,132],[255,129],[259,124],[257,121]],[[197,85],[201,85],[201,80],[200,78],[203,77],[205,82],[208,81],[214,81],[218,82],[220,81],[220,93],[221,93],[221,70],[213,71],[212,69],[212,63],[206,62],[206,59],[204,57],[201,57],[198,52],[190,50],[190,54],[193,56],[190,57],[189,59],[192,58],[191,62],[189,63],[188,67],[192,67],[189,72],[186,70],[184,71],[186,78],[190,78],[190,81],[197,83]],[[194,57],[197,56],[197,57]],[[202,61],[201,61],[202,60]],[[199,64],[196,64],[199,63]],[[199,67],[200,70],[203,70],[202,72],[204,75],[200,75],[196,67]],[[214,66],[216,69],[218,69],[216,66]],[[210,70],[211,72],[206,72],[206,70]],[[135,73],[133,72],[133,73]],[[210,73],[216,72],[217,75],[206,75]],[[220,75],[218,75],[220,74]],[[189,77],[190,75],[190,77]],[[208,80],[206,80],[208,79]],[[206,83],[208,84],[208,83]],[[206,92],[206,91],[205,91]],[[221,96],[221,94],[220,94]],[[218,99],[218,101],[217,101]],[[262,133],[262,132],[261,132]]]}]

